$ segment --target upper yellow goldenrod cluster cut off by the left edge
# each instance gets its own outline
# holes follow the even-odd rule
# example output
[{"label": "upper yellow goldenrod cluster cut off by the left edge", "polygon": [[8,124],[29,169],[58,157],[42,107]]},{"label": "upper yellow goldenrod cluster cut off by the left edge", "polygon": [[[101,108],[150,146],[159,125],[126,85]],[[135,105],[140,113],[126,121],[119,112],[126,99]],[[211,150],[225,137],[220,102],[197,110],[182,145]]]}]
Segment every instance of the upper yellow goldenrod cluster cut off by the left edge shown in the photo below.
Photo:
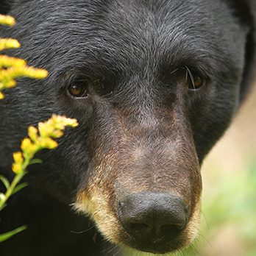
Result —
[{"label": "upper yellow goldenrod cluster cut off by the left edge", "polygon": [[[0,24],[13,26],[15,24],[15,19],[8,15],[0,15]],[[19,48],[20,46],[18,40],[0,38],[0,51]],[[26,65],[25,60],[0,55],[0,99],[4,99],[4,94],[1,90],[13,88],[16,85],[15,79],[18,77],[43,79],[47,76],[48,71],[45,69],[29,67]]]}]

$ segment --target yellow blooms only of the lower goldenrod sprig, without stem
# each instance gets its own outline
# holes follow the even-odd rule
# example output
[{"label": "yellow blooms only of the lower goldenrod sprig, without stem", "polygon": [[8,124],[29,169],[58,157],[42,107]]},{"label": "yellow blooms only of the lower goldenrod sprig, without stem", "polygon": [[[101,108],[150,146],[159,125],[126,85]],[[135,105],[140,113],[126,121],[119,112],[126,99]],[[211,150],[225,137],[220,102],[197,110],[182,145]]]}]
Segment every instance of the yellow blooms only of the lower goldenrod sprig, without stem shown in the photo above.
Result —
[{"label": "yellow blooms only of the lower goldenrod sprig, without stem", "polygon": [[22,152],[15,152],[13,154],[13,171],[16,174],[26,170],[30,160],[41,149],[54,149],[58,143],[54,138],[63,136],[63,129],[65,127],[77,127],[77,120],[65,118],[60,115],[52,115],[46,122],[40,122],[38,129],[36,127],[29,127],[29,138],[24,138],[21,142]]}]

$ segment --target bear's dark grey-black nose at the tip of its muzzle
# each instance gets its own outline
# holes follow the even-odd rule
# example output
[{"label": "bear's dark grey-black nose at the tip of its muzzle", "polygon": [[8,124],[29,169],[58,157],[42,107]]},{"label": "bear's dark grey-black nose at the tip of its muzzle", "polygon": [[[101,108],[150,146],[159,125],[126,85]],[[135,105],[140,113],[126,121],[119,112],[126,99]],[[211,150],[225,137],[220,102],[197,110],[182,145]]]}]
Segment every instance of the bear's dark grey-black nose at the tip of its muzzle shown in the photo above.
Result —
[{"label": "bear's dark grey-black nose at the tip of its muzzle", "polygon": [[188,207],[171,193],[143,191],[119,202],[118,218],[138,241],[168,241],[185,227]]}]

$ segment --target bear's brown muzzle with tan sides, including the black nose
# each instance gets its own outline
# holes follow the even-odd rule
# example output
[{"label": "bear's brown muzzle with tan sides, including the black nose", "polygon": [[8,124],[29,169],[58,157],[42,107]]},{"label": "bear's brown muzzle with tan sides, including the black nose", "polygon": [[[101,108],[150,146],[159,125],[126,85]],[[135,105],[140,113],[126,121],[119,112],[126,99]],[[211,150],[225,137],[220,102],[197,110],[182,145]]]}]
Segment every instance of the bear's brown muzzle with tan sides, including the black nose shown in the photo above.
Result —
[{"label": "bear's brown muzzle with tan sides, including the black nose", "polygon": [[197,234],[202,191],[190,129],[169,117],[148,124],[110,116],[115,129],[97,125],[104,133],[91,135],[75,208],[118,246],[158,254],[187,246]]}]

